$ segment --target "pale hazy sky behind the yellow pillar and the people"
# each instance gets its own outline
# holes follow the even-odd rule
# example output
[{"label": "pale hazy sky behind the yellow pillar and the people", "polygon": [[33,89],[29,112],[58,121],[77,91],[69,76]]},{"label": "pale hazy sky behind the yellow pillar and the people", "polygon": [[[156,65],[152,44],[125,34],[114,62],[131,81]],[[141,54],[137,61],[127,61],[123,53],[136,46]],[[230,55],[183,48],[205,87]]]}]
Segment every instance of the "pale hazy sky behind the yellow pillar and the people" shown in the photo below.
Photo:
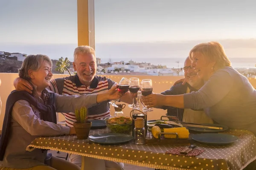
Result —
[{"label": "pale hazy sky behind the yellow pillar and the people", "polygon": [[[256,57],[255,0],[95,0],[96,55],[186,56],[219,41],[230,57]],[[0,51],[72,60],[76,0],[0,0]]]}]

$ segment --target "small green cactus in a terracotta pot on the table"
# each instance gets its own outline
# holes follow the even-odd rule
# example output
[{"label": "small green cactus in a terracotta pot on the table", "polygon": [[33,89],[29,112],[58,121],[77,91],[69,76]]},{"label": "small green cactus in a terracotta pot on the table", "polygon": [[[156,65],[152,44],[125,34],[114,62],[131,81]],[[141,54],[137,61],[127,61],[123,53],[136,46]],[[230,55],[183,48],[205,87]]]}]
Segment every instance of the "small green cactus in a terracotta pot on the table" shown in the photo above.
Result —
[{"label": "small green cactus in a terracotta pot on the table", "polygon": [[74,122],[74,127],[76,130],[76,136],[78,139],[87,139],[90,133],[90,127],[92,122],[87,120],[87,108],[83,107],[76,109],[76,122]]}]

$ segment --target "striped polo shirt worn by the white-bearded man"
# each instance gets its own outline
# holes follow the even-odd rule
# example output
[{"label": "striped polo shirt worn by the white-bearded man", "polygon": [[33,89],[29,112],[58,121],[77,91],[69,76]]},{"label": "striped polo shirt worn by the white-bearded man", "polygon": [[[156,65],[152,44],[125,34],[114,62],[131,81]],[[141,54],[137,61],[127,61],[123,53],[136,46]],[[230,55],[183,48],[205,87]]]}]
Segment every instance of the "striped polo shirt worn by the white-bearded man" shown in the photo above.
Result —
[{"label": "striped polo shirt worn by the white-bearded man", "polygon": [[[51,80],[49,89],[60,95],[82,95],[82,94],[100,94],[111,89],[116,82],[106,77],[95,76],[90,86],[83,85],[77,75],[57,78]],[[101,102],[88,108],[88,119],[102,119],[110,117],[109,101]],[[75,113],[64,113],[66,126],[72,127],[76,121]]]}]

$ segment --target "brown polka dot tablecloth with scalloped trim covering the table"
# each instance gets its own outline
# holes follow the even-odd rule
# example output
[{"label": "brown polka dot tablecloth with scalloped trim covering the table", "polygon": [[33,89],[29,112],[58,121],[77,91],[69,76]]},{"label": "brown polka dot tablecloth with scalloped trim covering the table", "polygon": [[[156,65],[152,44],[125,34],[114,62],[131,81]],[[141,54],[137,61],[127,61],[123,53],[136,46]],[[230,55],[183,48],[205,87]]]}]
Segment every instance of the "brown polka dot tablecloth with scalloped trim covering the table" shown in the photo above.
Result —
[{"label": "brown polka dot tablecloth with scalloped trim covering the table", "polygon": [[[91,130],[90,134],[106,133],[107,129]],[[170,170],[242,170],[256,159],[256,138],[248,131],[230,130],[243,133],[243,138],[230,145],[204,145],[197,143],[199,149],[205,150],[199,156],[177,156],[166,154],[167,150],[179,147],[174,144],[144,144],[133,142],[120,145],[101,145],[79,140],[76,136],[38,137],[28,147],[58,150],[97,159],[105,159],[144,167]],[[180,146],[184,147],[184,145]]]}]

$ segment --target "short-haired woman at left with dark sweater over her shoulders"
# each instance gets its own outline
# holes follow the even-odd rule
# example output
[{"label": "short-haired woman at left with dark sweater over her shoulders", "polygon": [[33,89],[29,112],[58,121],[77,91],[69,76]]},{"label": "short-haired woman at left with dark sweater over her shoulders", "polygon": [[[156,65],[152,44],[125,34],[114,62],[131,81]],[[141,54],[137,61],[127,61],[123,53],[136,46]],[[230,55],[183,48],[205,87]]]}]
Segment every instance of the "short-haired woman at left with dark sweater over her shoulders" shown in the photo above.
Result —
[{"label": "short-haired woman at left with dark sweater over her shoulders", "polygon": [[61,96],[49,91],[52,62],[46,55],[29,55],[19,70],[19,77],[28,80],[32,94],[13,91],[6,101],[6,112],[0,138],[0,170],[80,170],[68,161],[58,159],[40,149],[26,147],[37,136],[75,134],[74,127],[56,124],[56,112],[74,112],[122,95],[117,86],[102,94]]}]

